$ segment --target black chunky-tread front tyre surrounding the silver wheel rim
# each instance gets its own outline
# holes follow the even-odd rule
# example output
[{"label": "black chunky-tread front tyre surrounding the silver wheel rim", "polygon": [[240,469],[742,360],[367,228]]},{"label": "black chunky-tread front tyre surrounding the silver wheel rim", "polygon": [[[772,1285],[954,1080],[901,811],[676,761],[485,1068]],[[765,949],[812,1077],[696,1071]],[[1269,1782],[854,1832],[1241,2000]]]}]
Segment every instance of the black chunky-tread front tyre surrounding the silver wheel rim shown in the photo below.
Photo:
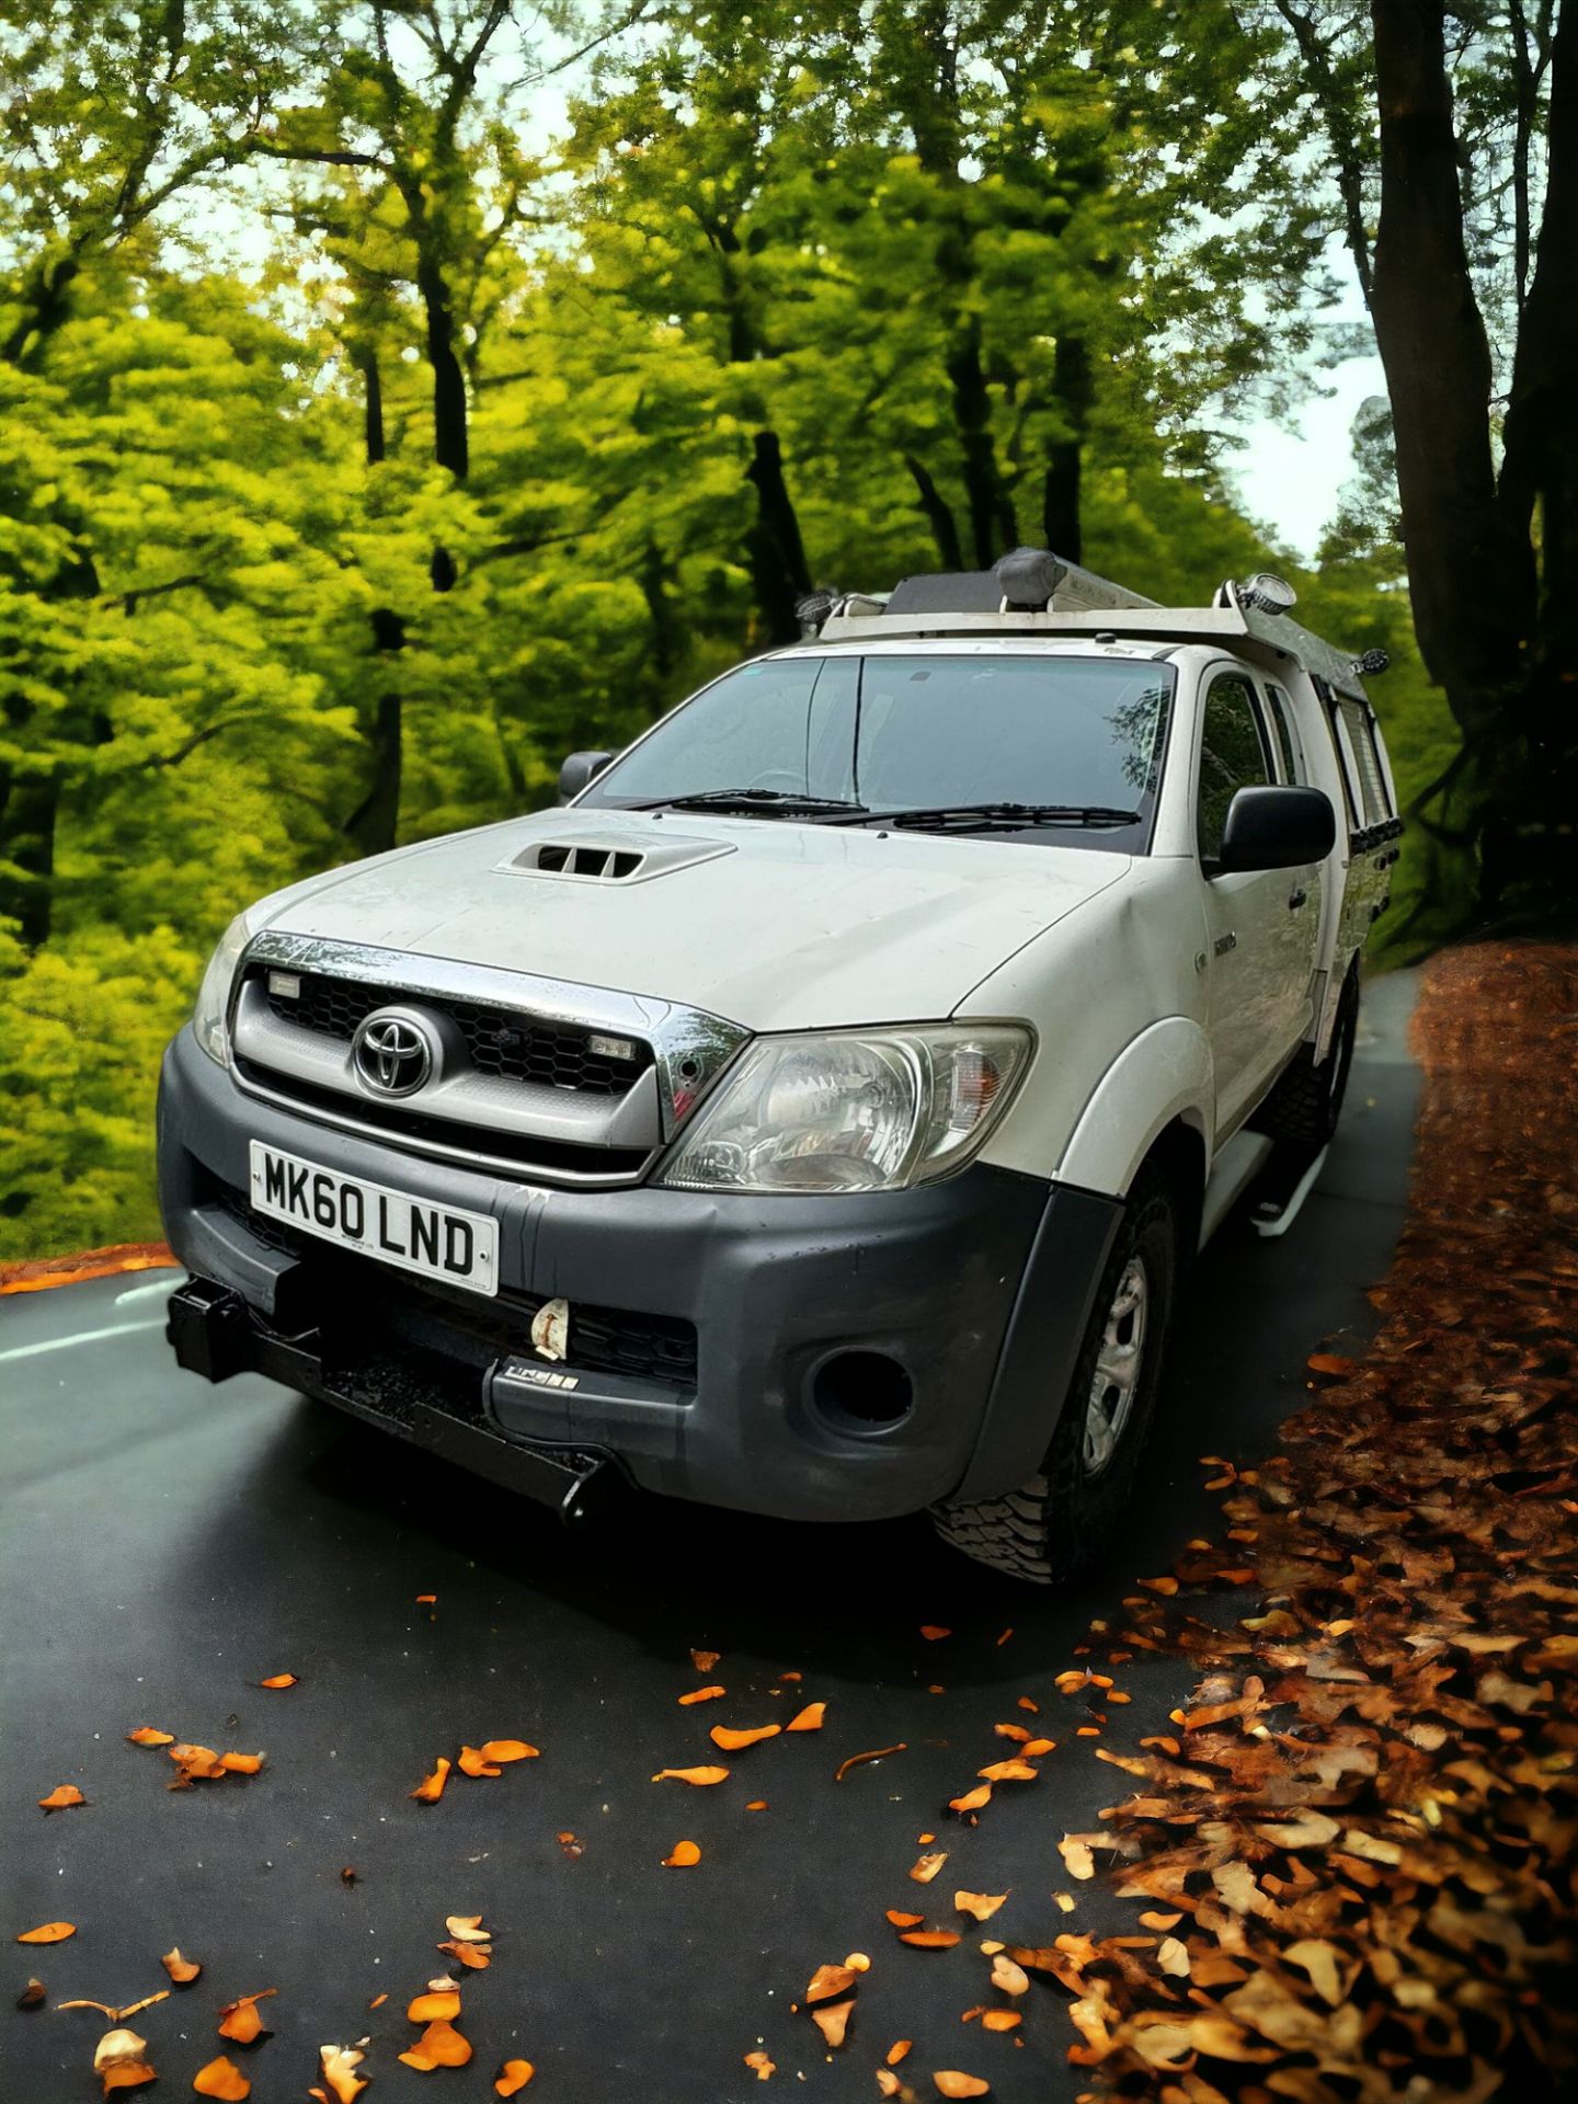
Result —
[{"label": "black chunky-tread front tyre surrounding the silver wheel rim", "polygon": [[[1142,1170],[1113,1237],[1046,1460],[1008,1496],[934,1504],[932,1523],[953,1549],[1029,1584],[1056,1584],[1100,1555],[1128,1502],[1155,1412],[1180,1273],[1180,1218],[1168,1178]],[[1111,1460],[1092,1477],[1084,1445],[1096,1361],[1119,1286],[1136,1258],[1145,1267],[1149,1304],[1134,1401]],[[1052,1408],[1048,1397],[1048,1416]]]}]

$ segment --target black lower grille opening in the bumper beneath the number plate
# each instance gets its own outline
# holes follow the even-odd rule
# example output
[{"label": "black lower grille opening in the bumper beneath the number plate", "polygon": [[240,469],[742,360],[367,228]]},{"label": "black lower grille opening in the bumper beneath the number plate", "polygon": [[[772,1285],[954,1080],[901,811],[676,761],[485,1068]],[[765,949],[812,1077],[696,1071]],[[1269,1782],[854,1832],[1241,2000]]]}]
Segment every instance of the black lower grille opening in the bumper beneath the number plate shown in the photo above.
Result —
[{"label": "black lower grille opening in the bumper beneath the number plate", "polygon": [[[404,1338],[412,1349],[438,1351],[448,1361],[446,1387],[457,1393],[467,1393],[469,1368],[469,1389],[478,1395],[476,1374],[494,1359],[505,1353],[537,1357],[532,1317],[545,1304],[543,1294],[501,1292],[484,1300],[303,1235],[286,1220],[255,1212],[229,1185],[215,1182],[210,1201],[265,1248],[299,1260],[299,1273],[280,1281],[280,1319],[288,1315],[292,1330],[307,1323],[320,1328],[326,1357],[330,1340],[339,1340],[341,1353],[356,1344],[356,1355],[362,1355],[360,1340],[377,1336],[383,1357],[391,1338]],[[576,1300],[570,1304],[568,1363],[589,1374],[694,1389],[696,1326],[677,1315]]]}]

